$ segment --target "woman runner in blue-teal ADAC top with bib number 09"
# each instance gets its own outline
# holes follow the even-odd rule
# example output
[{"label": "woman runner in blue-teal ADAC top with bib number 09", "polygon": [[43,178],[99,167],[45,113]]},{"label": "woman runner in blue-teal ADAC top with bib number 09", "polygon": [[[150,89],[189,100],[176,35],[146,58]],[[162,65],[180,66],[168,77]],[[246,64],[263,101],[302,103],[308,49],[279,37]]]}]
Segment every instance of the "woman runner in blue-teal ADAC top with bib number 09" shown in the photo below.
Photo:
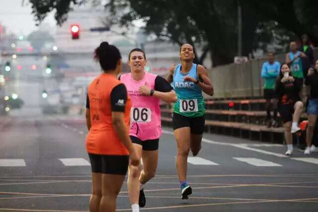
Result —
[{"label": "woman runner in blue-teal ADAC top with bib number 09", "polygon": [[193,59],[193,46],[182,45],[181,64],[173,65],[167,76],[167,81],[172,82],[177,95],[172,122],[177,142],[176,169],[182,199],[188,199],[188,195],[192,194],[192,189],[186,181],[189,150],[191,149],[193,156],[196,156],[201,149],[205,122],[202,91],[210,96],[214,93],[207,71],[203,66],[193,64]]}]

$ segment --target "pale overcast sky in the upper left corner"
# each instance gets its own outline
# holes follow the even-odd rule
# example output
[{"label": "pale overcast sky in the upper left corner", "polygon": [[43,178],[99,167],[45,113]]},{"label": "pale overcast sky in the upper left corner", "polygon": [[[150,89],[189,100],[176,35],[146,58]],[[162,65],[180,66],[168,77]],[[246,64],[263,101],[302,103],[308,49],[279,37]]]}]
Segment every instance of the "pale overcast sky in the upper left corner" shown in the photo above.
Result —
[{"label": "pale overcast sky in the upper left corner", "polygon": [[[29,0],[24,0],[23,6],[22,0],[0,0],[0,23],[6,27],[7,32],[27,35],[37,29],[31,11]],[[54,14],[50,14],[44,24],[55,27]]]}]

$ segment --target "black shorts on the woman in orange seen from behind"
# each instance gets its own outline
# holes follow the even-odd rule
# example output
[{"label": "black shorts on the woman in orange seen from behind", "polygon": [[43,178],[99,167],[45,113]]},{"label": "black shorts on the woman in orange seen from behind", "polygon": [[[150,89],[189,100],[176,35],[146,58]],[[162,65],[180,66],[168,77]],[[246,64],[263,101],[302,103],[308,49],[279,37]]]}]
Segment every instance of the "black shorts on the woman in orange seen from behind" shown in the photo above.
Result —
[{"label": "black shorts on the woman in orange seen from behind", "polygon": [[91,171],[102,174],[126,175],[129,155],[102,155],[88,153]]}]

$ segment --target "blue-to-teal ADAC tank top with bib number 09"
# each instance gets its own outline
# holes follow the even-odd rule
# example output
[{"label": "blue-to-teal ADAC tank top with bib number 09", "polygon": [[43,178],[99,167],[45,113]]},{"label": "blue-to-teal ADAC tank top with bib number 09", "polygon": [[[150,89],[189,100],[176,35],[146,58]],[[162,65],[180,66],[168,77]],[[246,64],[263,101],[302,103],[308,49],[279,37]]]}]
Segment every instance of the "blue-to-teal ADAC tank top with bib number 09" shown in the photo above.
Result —
[{"label": "blue-to-teal ADAC tank top with bib number 09", "polygon": [[184,76],[198,79],[197,64],[192,64],[191,70],[186,74],[181,73],[181,64],[175,67],[172,83],[177,95],[177,101],[174,103],[173,112],[186,117],[203,116],[205,103],[202,90],[194,82],[183,81]]}]

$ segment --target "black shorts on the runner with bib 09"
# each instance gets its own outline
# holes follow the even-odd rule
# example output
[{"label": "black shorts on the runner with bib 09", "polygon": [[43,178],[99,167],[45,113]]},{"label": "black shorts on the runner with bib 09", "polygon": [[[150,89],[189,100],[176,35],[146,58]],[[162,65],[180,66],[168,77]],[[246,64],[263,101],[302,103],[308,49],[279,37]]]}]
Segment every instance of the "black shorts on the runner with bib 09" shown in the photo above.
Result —
[{"label": "black shorts on the runner with bib 09", "polygon": [[200,117],[186,117],[178,113],[173,113],[172,117],[173,130],[189,127],[191,134],[202,135],[204,132],[205,118]]}]

